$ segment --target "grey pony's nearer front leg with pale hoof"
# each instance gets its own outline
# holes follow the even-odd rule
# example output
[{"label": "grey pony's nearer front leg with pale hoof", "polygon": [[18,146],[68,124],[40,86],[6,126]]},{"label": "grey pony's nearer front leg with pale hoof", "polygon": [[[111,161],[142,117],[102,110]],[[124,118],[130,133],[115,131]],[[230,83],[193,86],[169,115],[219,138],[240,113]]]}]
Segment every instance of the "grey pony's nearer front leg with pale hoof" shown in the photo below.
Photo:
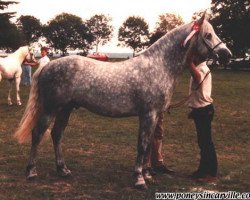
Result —
[{"label": "grey pony's nearer front leg with pale hoof", "polygon": [[150,112],[139,116],[140,126],[137,144],[137,159],[135,165],[135,187],[138,189],[147,189],[143,172],[149,168],[150,144],[156,122],[156,112]]}]

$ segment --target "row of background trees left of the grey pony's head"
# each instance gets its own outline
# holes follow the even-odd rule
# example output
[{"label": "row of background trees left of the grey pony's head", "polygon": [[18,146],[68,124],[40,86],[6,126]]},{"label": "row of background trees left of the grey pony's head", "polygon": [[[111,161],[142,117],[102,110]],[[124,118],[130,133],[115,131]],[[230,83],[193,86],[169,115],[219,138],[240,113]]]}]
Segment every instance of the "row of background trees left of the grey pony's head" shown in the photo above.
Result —
[{"label": "row of background trees left of the grey pony's head", "polygon": [[[156,37],[159,38],[170,30],[165,24],[166,21],[175,22],[173,27],[183,24],[181,17],[174,14],[160,15],[159,19],[161,22],[158,22],[155,32],[160,31],[161,35],[157,35],[155,32],[150,33],[144,18],[128,17],[119,28],[119,45],[132,48],[134,53],[139,52],[152,44]],[[78,49],[83,55],[94,48],[97,52],[100,45],[105,45],[111,40],[114,30],[111,25],[112,19],[103,14],[94,15],[83,21],[76,15],[61,13],[44,25],[34,16],[26,15],[19,17],[15,24],[12,24],[9,19],[5,20],[5,23],[15,29],[3,30],[4,35],[8,35],[8,38],[0,37],[0,48],[15,49],[20,45],[32,44],[43,38],[46,43],[55,50],[60,50],[63,55],[69,49]],[[16,38],[15,42],[11,41],[13,37]]]}]

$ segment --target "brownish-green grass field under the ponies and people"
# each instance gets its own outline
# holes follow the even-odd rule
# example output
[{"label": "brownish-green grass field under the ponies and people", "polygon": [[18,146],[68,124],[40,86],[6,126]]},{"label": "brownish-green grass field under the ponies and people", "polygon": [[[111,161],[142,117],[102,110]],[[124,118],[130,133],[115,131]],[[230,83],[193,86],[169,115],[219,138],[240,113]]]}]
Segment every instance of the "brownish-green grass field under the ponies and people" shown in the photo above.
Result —
[{"label": "brownish-green grass field under the ponies and people", "polygon": [[[184,98],[189,74],[176,88]],[[138,119],[111,119],[79,109],[72,113],[63,138],[65,161],[72,178],[56,175],[51,139],[39,148],[39,178],[26,181],[30,143],[19,145],[13,133],[23,114],[29,88],[21,88],[23,106],[7,106],[7,81],[0,84],[0,199],[154,199],[155,192],[250,190],[250,72],[213,71],[216,109],[213,139],[219,162],[216,184],[196,183],[185,176],[199,162],[194,124],[185,106],[165,115],[164,157],[179,177],[157,175],[149,190],[133,189]]]}]

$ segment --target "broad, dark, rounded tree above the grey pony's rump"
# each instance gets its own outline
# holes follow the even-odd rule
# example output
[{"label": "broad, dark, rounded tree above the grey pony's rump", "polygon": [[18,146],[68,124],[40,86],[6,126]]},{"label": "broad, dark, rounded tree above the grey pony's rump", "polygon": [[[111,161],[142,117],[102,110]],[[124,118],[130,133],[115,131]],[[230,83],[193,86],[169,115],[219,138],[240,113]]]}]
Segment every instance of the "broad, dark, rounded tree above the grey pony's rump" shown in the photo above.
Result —
[{"label": "broad, dark, rounded tree above the grey pony's rump", "polygon": [[61,50],[63,55],[67,49],[82,49],[87,52],[93,37],[89,28],[82,19],[76,15],[62,13],[48,22],[44,28],[44,35],[56,50]]}]

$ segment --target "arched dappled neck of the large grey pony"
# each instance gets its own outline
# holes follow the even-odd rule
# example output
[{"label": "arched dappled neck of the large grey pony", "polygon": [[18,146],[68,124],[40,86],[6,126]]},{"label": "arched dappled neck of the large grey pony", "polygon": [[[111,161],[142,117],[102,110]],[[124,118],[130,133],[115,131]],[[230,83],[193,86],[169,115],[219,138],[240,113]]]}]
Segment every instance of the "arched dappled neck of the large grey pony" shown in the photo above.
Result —
[{"label": "arched dappled neck of the large grey pony", "polygon": [[182,46],[183,41],[191,32],[192,23],[177,27],[156,41],[145,51],[145,54],[160,59],[165,69],[171,74],[178,75],[184,65],[183,60],[186,49]]}]

